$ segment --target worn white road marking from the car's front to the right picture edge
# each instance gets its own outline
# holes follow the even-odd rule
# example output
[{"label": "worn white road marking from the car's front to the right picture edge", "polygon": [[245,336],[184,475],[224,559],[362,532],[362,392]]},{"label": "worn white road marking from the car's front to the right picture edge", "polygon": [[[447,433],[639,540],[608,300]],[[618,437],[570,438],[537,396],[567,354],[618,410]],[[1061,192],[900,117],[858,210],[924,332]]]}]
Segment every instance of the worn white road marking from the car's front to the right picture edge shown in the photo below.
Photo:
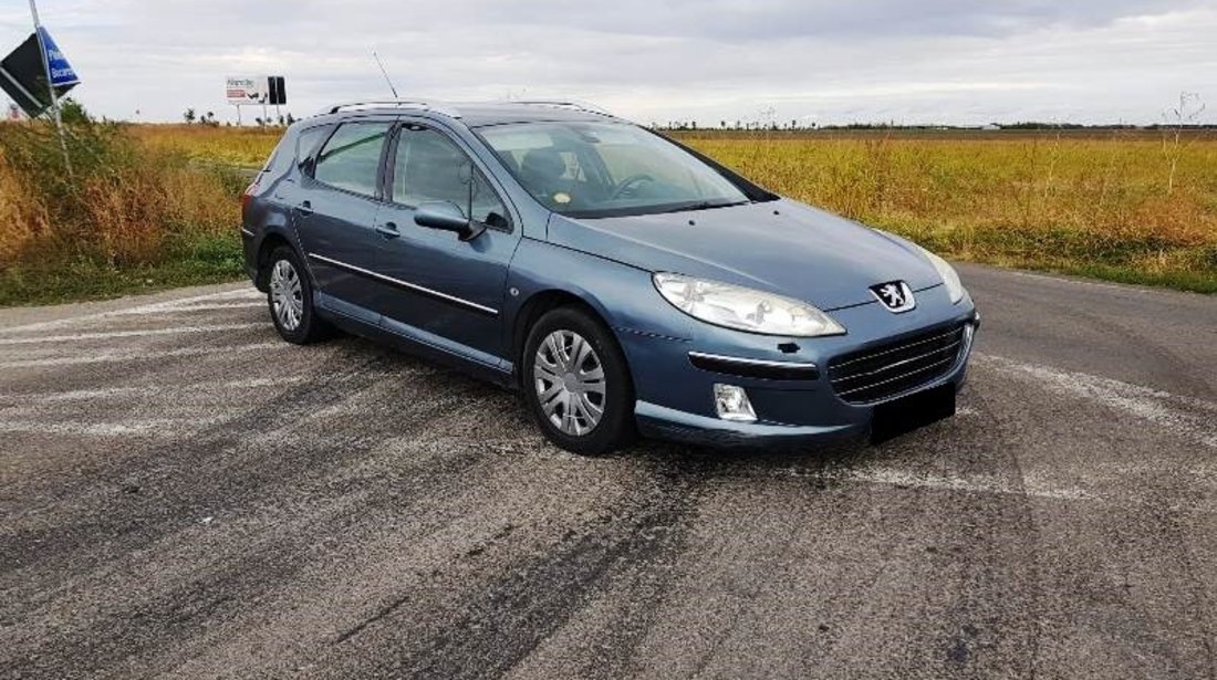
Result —
[{"label": "worn white road marking from the car's front to the right picture edge", "polygon": [[[1097,401],[1127,415],[1189,435],[1217,448],[1217,404],[1172,394],[1112,378],[1023,364],[989,354],[972,354],[972,360],[1006,373],[1034,378],[1042,387]],[[1204,415],[1196,411],[1204,412]]]}]

